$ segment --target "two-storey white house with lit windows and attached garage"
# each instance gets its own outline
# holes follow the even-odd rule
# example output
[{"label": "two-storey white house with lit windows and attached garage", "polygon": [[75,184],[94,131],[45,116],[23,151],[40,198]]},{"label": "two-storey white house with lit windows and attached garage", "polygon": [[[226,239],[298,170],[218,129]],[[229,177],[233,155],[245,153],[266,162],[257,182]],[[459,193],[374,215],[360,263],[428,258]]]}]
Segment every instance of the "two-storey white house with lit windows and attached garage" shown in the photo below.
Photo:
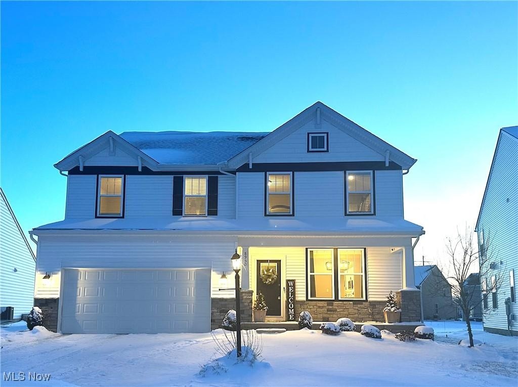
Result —
[{"label": "two-storey white house with lit windows and attached garage", "polygon": [[244,321],[257,292],[269,321],[382,321],[391,290],[419,321],[415,161],[320,102],[271,133],[107,132],[55,164],[66,213],[33,230],[36,304],[59,303],[63,333],[206,332],[237,250]]}]

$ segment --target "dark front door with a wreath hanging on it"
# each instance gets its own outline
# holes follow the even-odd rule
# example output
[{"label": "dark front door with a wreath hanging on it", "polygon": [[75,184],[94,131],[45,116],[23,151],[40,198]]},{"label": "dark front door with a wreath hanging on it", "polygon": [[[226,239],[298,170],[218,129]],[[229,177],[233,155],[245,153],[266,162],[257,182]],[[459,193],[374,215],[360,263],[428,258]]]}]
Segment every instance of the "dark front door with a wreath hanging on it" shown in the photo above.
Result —
[{"label": "dark front door with a wreath hanging on it", "polygon": [[257,261],[257,294],[268,306],[266,316],[281,316],[281,261]]}]

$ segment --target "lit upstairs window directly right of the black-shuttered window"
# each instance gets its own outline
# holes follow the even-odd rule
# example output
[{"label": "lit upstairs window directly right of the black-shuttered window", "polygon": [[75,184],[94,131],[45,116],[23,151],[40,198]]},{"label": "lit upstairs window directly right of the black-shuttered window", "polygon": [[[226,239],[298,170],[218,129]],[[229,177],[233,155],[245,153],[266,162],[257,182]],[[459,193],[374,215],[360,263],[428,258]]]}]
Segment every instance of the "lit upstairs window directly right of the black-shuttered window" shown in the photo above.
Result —
[{"label": "lit upstairs window directly right of the black-shuttered window", "polygon": [[292,173],[267,173],[266,214],[291,215],[292,208]]}]

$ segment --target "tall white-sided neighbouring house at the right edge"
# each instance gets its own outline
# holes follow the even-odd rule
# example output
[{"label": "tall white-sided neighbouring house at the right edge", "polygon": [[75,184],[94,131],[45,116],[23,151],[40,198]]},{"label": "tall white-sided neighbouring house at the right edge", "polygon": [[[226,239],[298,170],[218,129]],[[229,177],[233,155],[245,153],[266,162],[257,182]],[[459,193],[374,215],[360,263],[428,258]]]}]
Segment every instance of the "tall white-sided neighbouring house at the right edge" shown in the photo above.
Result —
[{"label": "tall white-sided neighbouring house at the right edge", "polygon": [[[485,331],[492,333],[518,334],[518,304],[514,281],[518,280],[518,126],[500,129],[495,154],[480,206],[477,228],[481,251],[491,249],[494,262],[490,270],[495,275],[480,278],[484,298],[483,324]],[[490,239],[488,242],[486,239]],[[485,246],[489,244],[490,246]],[[485,246],[485,248],[484,248]],[[485,273],[481,268],[480,273]],[[502,271],[505,271],[502,275]],[[490,295],[484,289],[492,289],[493,281],[503,277],[503,283]],[[506,313],[509,298],[510,312]],[[490,313],[487,312],[489,309]]]}]

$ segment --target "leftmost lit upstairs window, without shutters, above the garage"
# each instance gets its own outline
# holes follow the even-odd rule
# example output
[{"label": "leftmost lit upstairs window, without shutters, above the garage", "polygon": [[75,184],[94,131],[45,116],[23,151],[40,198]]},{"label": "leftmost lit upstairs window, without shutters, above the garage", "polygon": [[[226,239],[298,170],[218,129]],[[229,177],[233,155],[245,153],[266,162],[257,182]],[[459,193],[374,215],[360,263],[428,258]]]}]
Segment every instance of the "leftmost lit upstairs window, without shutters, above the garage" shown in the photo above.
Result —
[{"label": "leftmost lit upstairs window, without shutters, above the garage", "polygon": [[97,192],[98,217],[122,217],[124,177],[99,176]]}]

